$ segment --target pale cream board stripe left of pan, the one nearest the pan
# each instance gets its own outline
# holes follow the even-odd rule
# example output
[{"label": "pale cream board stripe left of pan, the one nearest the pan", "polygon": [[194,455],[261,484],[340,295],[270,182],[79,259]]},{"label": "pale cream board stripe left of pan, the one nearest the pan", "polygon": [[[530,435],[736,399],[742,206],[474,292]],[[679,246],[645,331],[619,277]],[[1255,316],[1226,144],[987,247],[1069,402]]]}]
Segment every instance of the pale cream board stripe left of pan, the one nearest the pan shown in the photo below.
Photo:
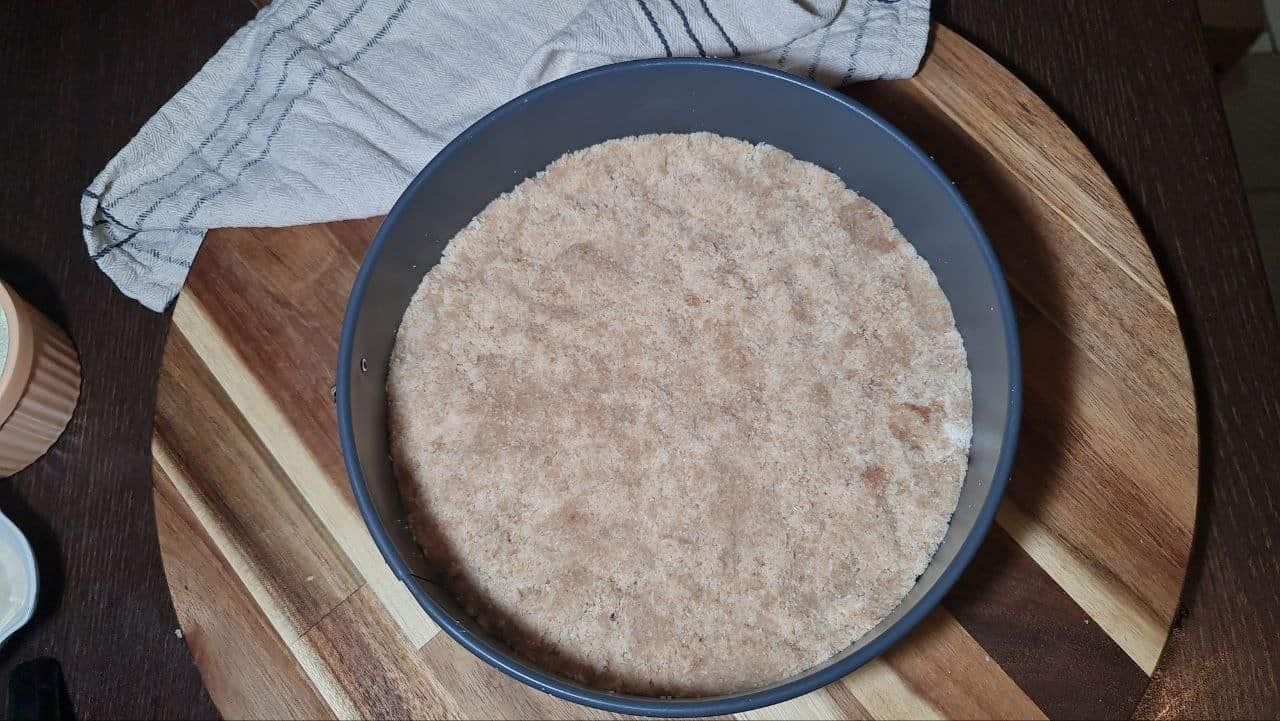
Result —
[{"label": "pale cream board stripe left of pan, the one nearest the pan", "polygon": [[[173,324],[189,341],[289,479],[297,483],[297,492],[369,581],[369,587],[396,619],[410,643],[421,648],[439,629],[410,595],[404,584],[392,574],[356,511],[349,492],[338,490],[332,480],[316,482],[328,479],[328,474],[298,438],[289,419],[271,402],[257,377],[209,319],[198,298],[183,292],[174,306]],[[346,489],[346,484],[342,488]]]}]

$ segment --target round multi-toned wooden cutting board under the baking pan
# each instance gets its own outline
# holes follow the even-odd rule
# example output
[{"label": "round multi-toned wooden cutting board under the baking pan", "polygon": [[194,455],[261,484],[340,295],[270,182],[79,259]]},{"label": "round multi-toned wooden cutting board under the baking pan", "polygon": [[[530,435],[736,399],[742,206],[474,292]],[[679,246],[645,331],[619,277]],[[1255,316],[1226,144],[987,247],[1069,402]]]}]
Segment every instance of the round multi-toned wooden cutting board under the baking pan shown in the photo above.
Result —
[{"label": "round multi-toned wooden cutting board under the baking pan", "polygon": [[[1009,497],[956,589],[851,676],[744,718],[1126,716],[1176,616],[1197,430],[1172,304],[1115,187],[991,58],[937,28],[852,95],[931,152],[1014,289],[1027,409]],[[608,716],[440,634],[356,512],[332,388],[380,219],[210,233],[173,314],[152,444],[174,604],[228,717]]]}]

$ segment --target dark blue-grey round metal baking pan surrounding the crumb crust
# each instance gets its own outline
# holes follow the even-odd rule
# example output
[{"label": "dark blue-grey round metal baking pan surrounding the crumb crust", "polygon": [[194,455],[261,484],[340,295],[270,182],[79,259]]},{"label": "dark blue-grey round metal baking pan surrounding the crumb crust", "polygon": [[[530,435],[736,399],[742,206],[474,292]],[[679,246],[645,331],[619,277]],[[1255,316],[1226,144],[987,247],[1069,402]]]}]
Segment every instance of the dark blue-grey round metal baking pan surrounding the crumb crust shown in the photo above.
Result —
[{"label": "dark blue-grey round metal baking pan surrounding the crumb crust", "polygon": [[[465,613],[408,528],[387,442],[387,364],[401,316],[444,246],[493,198],[561,155],[605,140],[709,131],[815,163],[879,205],[938,277],[973,373],[973,447],[960,503],[915,587],[879,625],[804,674],[714,698],[595,690],[509,652]],[[874,302],[868,298],[868,302]],[[713,716],[780,703],[845,676],[937,606],[1000,505],[1021,407],[1018,330],[986,236],[952,183],[877,115],[817,85],[745,63],[636,60],[535,88],[481,118],[431,160],[383,222],[356,277],[338,351],[338,428],[370,534],[426,613],[468,651],[561,698],[621,713]]]}]

